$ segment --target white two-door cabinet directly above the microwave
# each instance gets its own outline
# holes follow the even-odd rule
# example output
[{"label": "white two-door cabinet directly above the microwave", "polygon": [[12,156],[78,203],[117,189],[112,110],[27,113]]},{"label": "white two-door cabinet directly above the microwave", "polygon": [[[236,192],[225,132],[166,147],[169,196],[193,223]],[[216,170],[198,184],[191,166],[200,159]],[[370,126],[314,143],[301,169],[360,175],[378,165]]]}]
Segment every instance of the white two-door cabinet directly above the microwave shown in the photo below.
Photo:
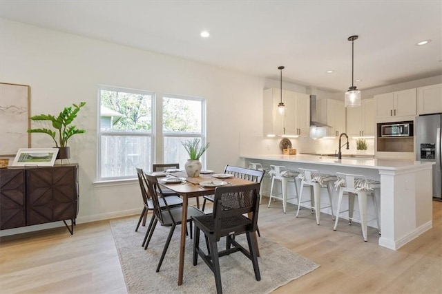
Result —
[{"label": "white two-door cabinet directly above the microwave", "polygon": [[416,89],[374,96],[376,118],[396,118],[416,115]]}]

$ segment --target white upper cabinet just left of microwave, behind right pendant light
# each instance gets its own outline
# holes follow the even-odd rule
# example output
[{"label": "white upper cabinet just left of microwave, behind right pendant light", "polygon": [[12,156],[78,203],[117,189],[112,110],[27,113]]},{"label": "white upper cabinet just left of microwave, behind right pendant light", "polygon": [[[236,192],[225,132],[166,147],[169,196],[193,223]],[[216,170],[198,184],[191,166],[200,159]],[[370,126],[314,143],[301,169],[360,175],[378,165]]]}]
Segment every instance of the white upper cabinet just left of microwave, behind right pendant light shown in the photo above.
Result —
[{"label": "white upper cabinet just left of microwave, behind right pendant light", "polygon": [[347,107],[347,135],[374,136],[374,98],[363,99],[361,107]]}]

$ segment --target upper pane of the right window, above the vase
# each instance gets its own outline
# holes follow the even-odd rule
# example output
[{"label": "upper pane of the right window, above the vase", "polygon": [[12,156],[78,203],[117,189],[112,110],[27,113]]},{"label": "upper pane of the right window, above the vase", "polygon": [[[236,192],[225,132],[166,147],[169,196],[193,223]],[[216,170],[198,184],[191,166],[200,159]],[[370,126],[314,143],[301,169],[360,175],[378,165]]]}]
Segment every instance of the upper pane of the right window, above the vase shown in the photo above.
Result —
[{"label": "upper pane of the right window, above the vase", "polygon": [[163,133],[201,134],[202,101],[163,98]]}]

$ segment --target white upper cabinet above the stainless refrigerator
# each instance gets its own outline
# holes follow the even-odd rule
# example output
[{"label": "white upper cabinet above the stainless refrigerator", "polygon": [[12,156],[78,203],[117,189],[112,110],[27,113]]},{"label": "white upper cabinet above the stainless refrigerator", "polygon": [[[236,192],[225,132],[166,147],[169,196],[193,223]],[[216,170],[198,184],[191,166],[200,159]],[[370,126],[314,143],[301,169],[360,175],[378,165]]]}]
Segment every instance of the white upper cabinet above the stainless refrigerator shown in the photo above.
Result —
[{"label": "white upper cabinet above the stainless refrigerator", "polygon": [[418,114],[442,112],[442,84],[417,88]]}]

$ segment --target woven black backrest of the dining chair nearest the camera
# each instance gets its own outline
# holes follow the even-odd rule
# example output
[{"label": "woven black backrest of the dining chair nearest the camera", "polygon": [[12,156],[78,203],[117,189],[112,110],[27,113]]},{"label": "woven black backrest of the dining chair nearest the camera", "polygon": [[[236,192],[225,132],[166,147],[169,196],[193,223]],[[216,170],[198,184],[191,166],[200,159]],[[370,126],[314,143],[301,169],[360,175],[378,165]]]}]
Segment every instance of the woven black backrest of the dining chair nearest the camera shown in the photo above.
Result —
[{"label": "woven black backrest of the dining chair nearest the camera", "polygon": [[[220,240],[225,235],[256,231],[259,191],[259,183],[215,189],[212,216],[216,240]],[[251,219],[246,219],[243,216],[245,213],[252,213]],[[235,222],[235,220],[242,220],[242,222]],[[232,227],[232,224],[235,224],[235,227]]]}]

